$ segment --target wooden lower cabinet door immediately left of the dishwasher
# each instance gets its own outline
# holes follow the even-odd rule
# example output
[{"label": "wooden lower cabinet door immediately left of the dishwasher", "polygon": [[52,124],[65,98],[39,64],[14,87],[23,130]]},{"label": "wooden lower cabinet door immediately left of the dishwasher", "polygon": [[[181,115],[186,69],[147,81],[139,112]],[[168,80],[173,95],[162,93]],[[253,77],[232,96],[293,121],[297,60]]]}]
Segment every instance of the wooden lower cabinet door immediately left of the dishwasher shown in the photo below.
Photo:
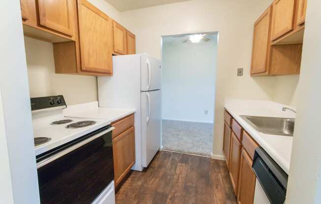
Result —
[{"label": "wooden lower cabinet door immediately left of the dishwasher", "polygon": [[240,176],[238,184],[238,204],[253,204],[256,176],[252,170],[252,159],[250,155],[242,149],[240,162]]}]

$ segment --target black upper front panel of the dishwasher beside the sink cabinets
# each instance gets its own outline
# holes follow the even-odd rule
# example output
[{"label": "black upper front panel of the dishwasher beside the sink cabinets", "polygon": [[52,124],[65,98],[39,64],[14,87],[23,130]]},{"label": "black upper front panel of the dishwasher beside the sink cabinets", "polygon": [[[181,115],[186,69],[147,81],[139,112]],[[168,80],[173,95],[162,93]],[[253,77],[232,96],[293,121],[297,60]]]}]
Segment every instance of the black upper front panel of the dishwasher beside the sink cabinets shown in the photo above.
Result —
[{"label": "black upper front panel of the dishwasher beside the sink cabinets", "polygon": [[255,151],[252,168],[271,204],[284,204],[288,175],[261,147]]}]

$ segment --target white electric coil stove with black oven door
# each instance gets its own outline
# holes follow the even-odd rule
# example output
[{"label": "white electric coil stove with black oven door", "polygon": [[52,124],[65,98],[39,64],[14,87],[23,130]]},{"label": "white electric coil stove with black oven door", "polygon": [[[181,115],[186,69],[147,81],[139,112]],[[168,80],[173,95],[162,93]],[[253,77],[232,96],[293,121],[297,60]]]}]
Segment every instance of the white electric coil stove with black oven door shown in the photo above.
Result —
[{"label": "white electric coil stove with black oven door", "polygon": [[63,96],[31,106],[40,203],[115,204],[110,122],[64,117]]}]

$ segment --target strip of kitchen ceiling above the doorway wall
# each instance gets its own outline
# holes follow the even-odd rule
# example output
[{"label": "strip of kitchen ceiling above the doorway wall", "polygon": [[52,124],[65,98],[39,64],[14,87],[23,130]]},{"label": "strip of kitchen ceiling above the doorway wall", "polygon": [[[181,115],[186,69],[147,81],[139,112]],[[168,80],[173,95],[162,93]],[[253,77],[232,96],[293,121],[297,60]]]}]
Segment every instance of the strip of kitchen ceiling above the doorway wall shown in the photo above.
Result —
[{"label": "strip of kitchen ceiling above the doorway wall", "polygon": [[106,0],[119,11],[128,11],[138,8],[176,3],[187,0]]}]

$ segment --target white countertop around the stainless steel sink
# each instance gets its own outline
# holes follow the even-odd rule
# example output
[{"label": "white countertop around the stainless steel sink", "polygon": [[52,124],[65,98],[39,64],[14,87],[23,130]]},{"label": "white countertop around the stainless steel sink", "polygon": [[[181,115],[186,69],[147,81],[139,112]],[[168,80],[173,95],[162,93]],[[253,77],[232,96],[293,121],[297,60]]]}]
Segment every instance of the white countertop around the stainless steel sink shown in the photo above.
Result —
[{"label": "white countertop around the stainless steel sink", "polygon": [[[295,113],[282,111],[284,105],[272,101],[226,100],[225,109],[257,143],[289,174],[293,137],[259,133],[241,115],[295,118]],[[295,109],[294,107],[291,107]]]}]

